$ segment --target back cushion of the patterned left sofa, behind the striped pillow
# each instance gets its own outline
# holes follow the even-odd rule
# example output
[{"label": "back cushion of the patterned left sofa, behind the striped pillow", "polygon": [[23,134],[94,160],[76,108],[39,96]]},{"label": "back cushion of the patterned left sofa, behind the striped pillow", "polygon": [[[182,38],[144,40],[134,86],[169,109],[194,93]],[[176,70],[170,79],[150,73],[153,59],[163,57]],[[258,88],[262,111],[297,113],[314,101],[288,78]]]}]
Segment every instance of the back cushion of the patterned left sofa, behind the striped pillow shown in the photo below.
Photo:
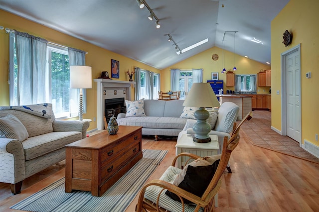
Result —
[{"label": "back cushion of the patterned left sofa, behind the striped pillow", "polygon": [[53,132],[52,123],[55,119],[53,112],[51,114],[51,118],[42,118],[14,109],[0,110],[0,117],[4,117],[7,114],[12,114],[21,121],[29,134],[29,138],[48,132]]}]

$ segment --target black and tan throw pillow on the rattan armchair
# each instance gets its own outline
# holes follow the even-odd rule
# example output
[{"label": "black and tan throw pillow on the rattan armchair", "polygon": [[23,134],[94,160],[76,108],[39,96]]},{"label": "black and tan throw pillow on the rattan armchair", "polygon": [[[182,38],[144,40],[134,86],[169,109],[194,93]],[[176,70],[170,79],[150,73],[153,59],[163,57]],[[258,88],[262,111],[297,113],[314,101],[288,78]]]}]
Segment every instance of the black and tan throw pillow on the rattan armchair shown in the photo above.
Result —
[{"label": "black and tan throw pillow on the rattan armchair", "polygon": [[[173,185],[201,197],[217,170],[220,156],[221,155],[213,155],[198,158],[197,160],[189,163],[177,175],[173,181]],[[166,191],[165,194],[171,199],[181,202],[179,197],[174,193]],[[189,203],[189,201],[185,199],[184,202]]]}]

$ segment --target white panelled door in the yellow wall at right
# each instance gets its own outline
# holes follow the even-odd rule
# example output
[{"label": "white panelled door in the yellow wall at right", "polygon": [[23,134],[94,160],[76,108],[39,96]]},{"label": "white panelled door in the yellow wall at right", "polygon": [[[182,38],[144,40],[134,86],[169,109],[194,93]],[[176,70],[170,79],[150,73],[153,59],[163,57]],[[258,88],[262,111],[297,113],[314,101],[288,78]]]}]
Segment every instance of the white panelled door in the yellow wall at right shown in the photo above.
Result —
[{"label": "white panelled door in the yellow wall at right", "polygon": [[301,143],[300,51],[286,56],[286,127],[287,136]]}]

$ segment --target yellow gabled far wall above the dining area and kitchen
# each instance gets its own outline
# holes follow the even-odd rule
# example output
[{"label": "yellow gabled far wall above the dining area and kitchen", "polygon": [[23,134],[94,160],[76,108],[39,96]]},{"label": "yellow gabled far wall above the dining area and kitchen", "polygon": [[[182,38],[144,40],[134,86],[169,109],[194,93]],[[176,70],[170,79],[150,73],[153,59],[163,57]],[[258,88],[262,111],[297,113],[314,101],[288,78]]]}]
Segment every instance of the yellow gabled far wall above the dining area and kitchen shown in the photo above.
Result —
[{"label": "yellow gabled far wall above the dining area and kitchen", "polygon": [[[190,50],[191,51],[191,50]],[[234,53],[225,51],[225,69],[233,69],[234,67]],[[187,53],[185,53],[187,54]],[[211,59],[213,54],[218,54],[219,59],[214,61]],[[203,51],[195,56],[192,56],[186,60],[172,65],[161,71],[161,81],[160,88],[162,91],[170,90],[170,69],[204,69],[203,71],[203,82],[211,80],[211,73],[218,72],[219,80],[224,81],[224,93],[227,90],[235,90],[235,87],[226,87],[226,75],[221,74],[223,70],[224,60],[223,60],[223,50],[218,47],[210,48]],[[236,68],[235,74],[257,74],[261,69],[270,70],[270,66],[267,64],[262,64],[254,60],[242,57],[236,54]],[[269,87],[258,87],[258,93],[269,94]],[[265,90],[265,91],[264,91]]]}]

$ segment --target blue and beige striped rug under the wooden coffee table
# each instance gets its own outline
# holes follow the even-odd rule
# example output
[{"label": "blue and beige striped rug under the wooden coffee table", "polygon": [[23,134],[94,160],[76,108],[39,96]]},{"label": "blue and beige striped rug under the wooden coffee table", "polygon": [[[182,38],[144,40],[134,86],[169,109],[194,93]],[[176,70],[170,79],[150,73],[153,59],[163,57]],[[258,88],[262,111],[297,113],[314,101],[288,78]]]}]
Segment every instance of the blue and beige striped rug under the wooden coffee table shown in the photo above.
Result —
[{"label": "blue and beige striped rug under the wooden coffee table", "polygon": [[91,192],[65,193],[65,178],[13,205],[10,209],[30,212],[124,212],[160,165],[167,151],[143,150],[137,162],[102,197]]}]

